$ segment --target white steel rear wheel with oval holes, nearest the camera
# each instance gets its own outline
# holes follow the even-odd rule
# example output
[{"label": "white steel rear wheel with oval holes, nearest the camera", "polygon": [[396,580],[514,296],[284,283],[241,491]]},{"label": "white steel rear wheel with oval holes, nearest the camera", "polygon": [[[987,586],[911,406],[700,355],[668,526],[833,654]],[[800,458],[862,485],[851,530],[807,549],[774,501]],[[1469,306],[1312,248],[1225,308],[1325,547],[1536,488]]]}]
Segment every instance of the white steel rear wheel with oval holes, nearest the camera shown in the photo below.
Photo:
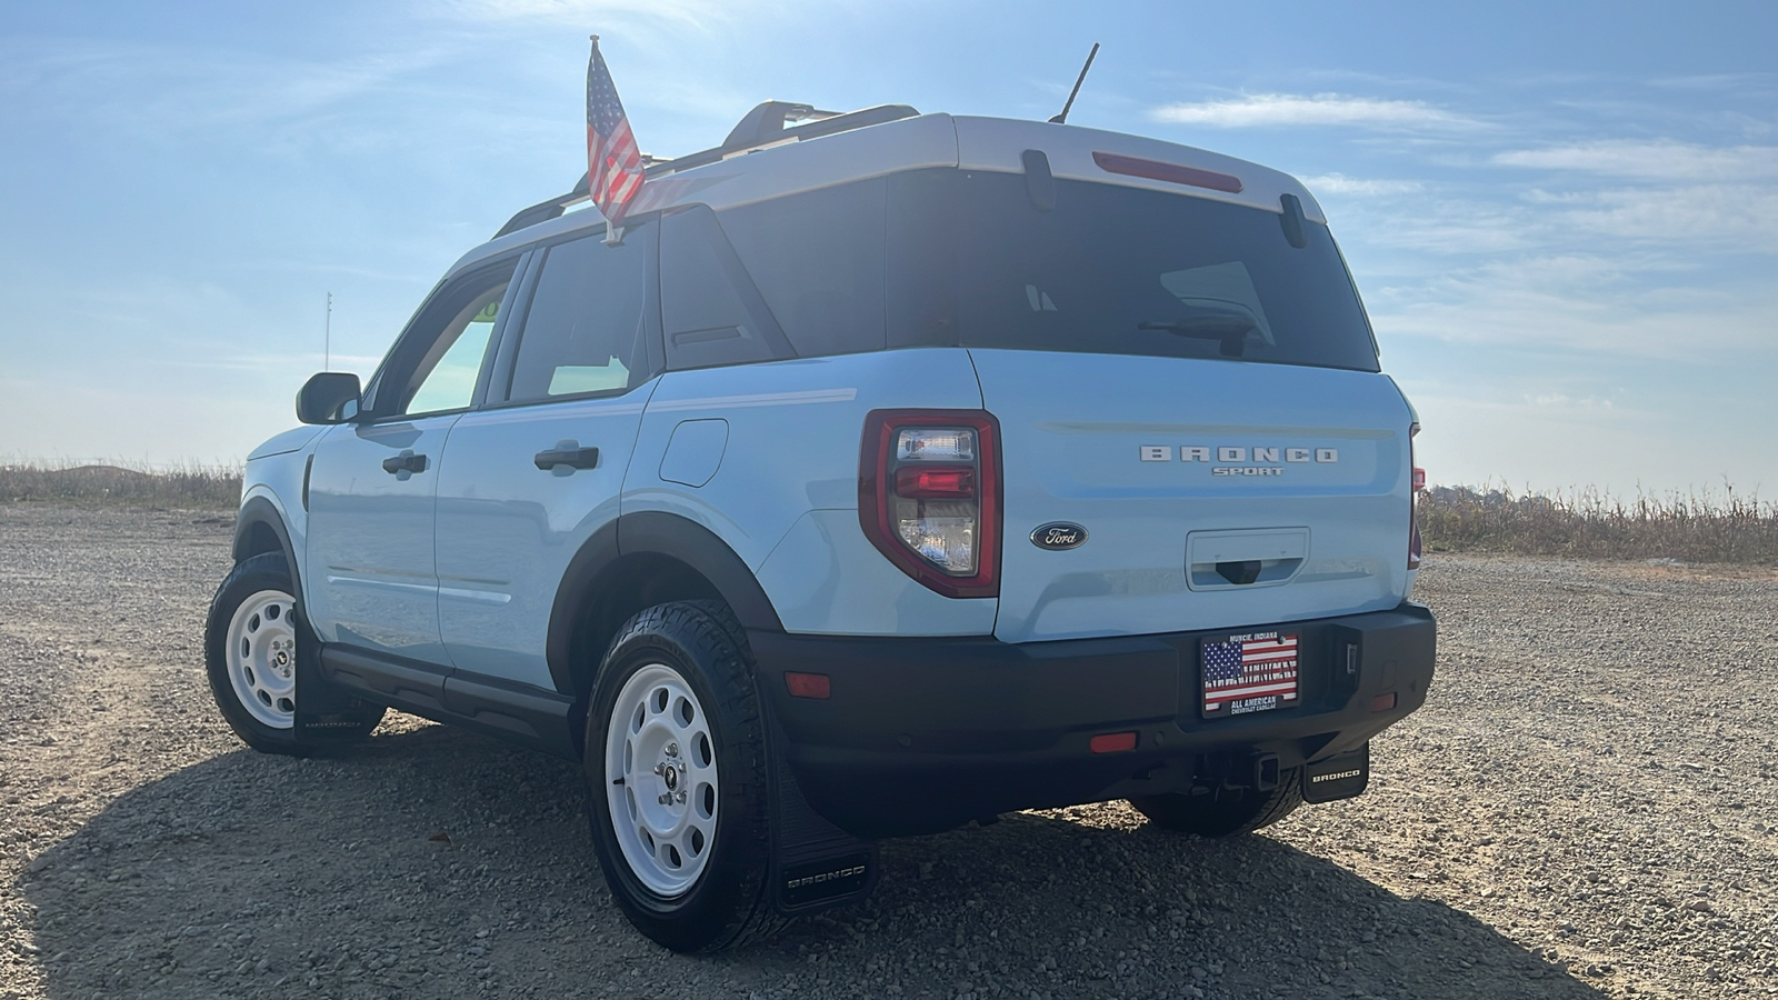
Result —
[{"label": "white steel rear wheel with oval holes, nearest the camera", "polygon": [[637,881],[686,893],[717,842],[717,742],[679,671],[645,664],[612,705],[605,740],[612,833]]}]

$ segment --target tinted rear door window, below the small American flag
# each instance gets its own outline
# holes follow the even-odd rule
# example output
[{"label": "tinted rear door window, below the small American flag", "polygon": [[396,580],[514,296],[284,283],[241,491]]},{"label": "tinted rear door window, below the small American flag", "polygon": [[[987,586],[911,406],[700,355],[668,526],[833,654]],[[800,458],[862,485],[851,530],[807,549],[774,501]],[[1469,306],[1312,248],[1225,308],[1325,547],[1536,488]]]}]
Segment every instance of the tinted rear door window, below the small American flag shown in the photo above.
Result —
[{"label": "tinted rear door window, below the small American flag", "polygon": [[619,393],[649,379],[647,238],[587,237],[549,247],[525,313],[507,399]]}]

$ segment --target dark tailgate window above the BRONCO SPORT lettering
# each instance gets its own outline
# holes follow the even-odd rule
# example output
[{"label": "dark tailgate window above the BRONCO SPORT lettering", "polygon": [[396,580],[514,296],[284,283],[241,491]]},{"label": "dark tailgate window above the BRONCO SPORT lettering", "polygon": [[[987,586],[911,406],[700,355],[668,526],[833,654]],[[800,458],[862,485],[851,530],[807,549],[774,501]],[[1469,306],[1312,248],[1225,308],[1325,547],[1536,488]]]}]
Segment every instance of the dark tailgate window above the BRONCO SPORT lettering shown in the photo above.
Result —
[{"label": "dark tailgate window above the BRONCO SPORT lettering", "polygon": [[1277,212],[1065,180],[1042,212],[1022,174],[896,190],[891,214],[925,222],[891,247],[891,302],[933,295],[900,311],[965,347],[1378,368],[1326,226],[1305,222],[1296,249]]}]

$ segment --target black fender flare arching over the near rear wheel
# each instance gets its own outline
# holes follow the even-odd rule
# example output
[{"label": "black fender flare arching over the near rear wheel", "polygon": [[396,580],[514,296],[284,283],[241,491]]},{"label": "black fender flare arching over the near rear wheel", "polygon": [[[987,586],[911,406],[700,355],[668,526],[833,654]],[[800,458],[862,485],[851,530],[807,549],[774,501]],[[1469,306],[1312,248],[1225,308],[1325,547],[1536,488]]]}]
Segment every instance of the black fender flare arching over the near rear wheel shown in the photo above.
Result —
[{"label": "black fender flare arching over the near rear wheel", "polygon": [[747,630],[782,632],[777,609],[747,562],[715,532],[690,518],[665,511],[622,514],[589,537],[569,560],[555,605],[549,609],[549,635],[544,658],[557,690],[574,690],[574,633],[589,598],[608,585],[608,571],[628,555],[665,555],[690,566],[722,594],[734,617]]}]

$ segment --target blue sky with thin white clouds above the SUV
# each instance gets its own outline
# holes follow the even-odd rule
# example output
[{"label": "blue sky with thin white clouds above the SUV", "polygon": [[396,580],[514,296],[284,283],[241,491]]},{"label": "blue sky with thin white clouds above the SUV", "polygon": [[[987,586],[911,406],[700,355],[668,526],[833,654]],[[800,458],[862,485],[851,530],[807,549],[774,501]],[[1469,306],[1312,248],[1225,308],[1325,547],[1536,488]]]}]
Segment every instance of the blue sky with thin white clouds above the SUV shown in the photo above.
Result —
[{"label": "blue sky with thin white clouds above the SUV", "polygon": [[1778,4],[0,9],[0,457],[235,461],[585,167],[759,100],[1070,117],[1326,208],[1433,482],[1778,493]]}]

